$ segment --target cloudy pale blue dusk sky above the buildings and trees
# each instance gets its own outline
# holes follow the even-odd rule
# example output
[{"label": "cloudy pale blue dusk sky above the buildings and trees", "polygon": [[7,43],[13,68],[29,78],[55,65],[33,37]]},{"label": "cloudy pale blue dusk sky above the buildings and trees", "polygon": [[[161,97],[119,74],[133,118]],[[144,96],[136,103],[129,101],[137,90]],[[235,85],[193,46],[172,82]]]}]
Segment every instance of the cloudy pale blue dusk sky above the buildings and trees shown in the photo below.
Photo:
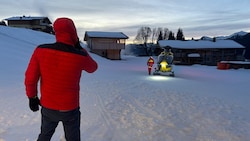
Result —
[{"label": "cloudy pale blue dusk sky above the buildings and trees", "polygon": [[250,32],[249,0],[0,0],[0,20],[13,16],[48,16],[74,20],[85,31],[123,32],[134,40],[140,27],[168,28],[185,38]]}]

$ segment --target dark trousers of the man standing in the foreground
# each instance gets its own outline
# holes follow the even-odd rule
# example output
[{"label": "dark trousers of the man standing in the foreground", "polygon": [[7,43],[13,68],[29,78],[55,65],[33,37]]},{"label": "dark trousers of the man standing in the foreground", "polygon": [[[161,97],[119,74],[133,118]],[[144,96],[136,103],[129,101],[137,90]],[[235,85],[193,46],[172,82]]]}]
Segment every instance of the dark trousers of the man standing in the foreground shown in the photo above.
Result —
[{"label": "dark trousers of the man standing in the foreground", "polygon": [[80,141],[81,112],[79,108],[68,112],[60,112],[43,107],[41,113],[41,133],[37,141],[50,141],[59,121],[63,124],[67,141]]}]

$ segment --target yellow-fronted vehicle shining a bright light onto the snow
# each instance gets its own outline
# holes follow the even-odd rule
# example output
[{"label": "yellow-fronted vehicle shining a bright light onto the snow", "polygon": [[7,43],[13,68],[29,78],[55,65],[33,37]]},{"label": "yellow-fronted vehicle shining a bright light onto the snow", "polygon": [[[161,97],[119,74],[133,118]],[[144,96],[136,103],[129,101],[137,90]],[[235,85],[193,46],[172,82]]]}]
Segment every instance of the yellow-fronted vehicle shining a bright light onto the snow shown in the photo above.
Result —
[{"label": "yellow-fronted vehicle shining a bright light onto the snow", "polygon": [[153,75],[167,75],[167,76],[174,76],[173,71],[173,60],[174,54],[169,50],[168,52],[164,50],[158,56],[157,67]]}]

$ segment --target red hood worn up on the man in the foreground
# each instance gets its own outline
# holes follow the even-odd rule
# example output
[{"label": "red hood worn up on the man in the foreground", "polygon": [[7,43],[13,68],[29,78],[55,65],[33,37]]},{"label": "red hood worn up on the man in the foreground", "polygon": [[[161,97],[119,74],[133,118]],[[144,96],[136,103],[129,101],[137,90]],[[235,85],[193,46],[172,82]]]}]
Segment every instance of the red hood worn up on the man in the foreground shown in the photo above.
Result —
[{"label": "red hood worn up on the man in the foreground", "polygon": [[65,43],[74,46],[78,41],[76,27],[69,18],[58,18],[54,22],[54,31],[56,42]]}]

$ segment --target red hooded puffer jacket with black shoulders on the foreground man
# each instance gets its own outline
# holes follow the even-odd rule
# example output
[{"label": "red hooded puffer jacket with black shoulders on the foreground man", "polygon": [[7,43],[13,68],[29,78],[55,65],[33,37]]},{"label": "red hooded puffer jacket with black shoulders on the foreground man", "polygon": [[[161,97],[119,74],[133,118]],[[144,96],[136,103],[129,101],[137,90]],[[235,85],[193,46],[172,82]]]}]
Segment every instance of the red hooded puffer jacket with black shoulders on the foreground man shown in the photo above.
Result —
[{"label": "red hooded puffer jacket with black shoulders on the foreground man", "polygon": [[25,73],[26,95],[37,96],[40,80],[40,102],[53,110],[79,107],[79,82],[82,70],[92,73],[97,63],[86,50],[74,47],[78,41],[71,19],[58,18],[54,23],[56,43],[39,45]]}]

